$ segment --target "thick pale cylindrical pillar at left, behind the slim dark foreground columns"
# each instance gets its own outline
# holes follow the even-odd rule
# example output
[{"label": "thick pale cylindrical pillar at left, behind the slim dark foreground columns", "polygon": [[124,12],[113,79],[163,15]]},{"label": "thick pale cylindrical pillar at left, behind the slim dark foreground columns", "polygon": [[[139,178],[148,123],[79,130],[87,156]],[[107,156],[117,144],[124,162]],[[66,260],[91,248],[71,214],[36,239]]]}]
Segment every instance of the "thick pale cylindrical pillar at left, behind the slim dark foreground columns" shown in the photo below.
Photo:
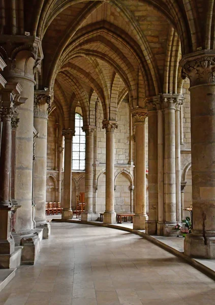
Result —
[{"label": "thick pale cylindrical pillar at left, behind the slim dark foreground columns", "polygon": [[[26,47],[28,48],[28,47]],[[15,197],[21,207],[17,210],[16,229],[19,235],[32,233],[32,159],[34,127],[34,65],[36,47],[21,50],[16,55],[16,65],[4,71],[6,79],[19,83],[21,96],[26,100],[19,108],[19,128],[16,132]]]}]

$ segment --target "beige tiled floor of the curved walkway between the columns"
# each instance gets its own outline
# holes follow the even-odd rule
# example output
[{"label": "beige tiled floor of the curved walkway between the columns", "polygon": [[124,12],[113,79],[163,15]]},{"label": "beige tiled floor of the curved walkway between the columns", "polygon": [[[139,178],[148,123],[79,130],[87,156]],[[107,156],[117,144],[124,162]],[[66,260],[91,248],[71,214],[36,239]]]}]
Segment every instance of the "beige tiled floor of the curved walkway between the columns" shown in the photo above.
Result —
[{"label": "beige tiled floor of the curved walkway between the columns", "polygon": [[21,266],[0,305],[214,305],[215,283],[124,231],[51,223],[35,266]]}]

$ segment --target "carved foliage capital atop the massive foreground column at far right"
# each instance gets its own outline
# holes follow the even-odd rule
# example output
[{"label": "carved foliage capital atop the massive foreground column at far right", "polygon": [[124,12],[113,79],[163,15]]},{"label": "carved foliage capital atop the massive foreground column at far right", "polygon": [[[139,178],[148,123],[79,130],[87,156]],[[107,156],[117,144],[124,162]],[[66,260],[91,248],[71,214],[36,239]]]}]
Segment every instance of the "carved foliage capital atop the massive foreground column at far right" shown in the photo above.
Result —
[{"label": "carved foliage capital atop the massive foreground column at far right", "polygon": [[215,51],[203,50],[187,54],[180,60],[181,78],[190,79],[191,87],[215,83]]}]

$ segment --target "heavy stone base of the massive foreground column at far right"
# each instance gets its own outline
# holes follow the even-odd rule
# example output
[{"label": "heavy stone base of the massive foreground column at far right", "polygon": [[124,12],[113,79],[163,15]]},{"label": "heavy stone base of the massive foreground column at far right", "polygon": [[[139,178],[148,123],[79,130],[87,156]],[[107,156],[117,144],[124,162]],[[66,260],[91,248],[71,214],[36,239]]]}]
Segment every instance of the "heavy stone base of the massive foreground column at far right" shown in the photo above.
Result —
[{"label": "heavy stone base of the massive foreground column at far right", "polygon": [[190,257],[215,259],[215,235],[204,238],[193,233],[187,234],[184,249],[185,254]]}]

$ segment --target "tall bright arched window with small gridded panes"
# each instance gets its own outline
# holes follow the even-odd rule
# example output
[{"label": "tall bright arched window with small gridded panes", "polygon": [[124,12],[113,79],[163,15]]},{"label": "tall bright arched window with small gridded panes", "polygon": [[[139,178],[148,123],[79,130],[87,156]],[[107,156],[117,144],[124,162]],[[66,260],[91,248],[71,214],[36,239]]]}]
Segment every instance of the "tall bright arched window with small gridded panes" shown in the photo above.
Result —
[{"label": "tall bright arched window with small gridded panes", "polygon": [[75,136],[72,145],[72,170],[85,170],[85,133],[82,131],[83,118],[75,114]]}]

